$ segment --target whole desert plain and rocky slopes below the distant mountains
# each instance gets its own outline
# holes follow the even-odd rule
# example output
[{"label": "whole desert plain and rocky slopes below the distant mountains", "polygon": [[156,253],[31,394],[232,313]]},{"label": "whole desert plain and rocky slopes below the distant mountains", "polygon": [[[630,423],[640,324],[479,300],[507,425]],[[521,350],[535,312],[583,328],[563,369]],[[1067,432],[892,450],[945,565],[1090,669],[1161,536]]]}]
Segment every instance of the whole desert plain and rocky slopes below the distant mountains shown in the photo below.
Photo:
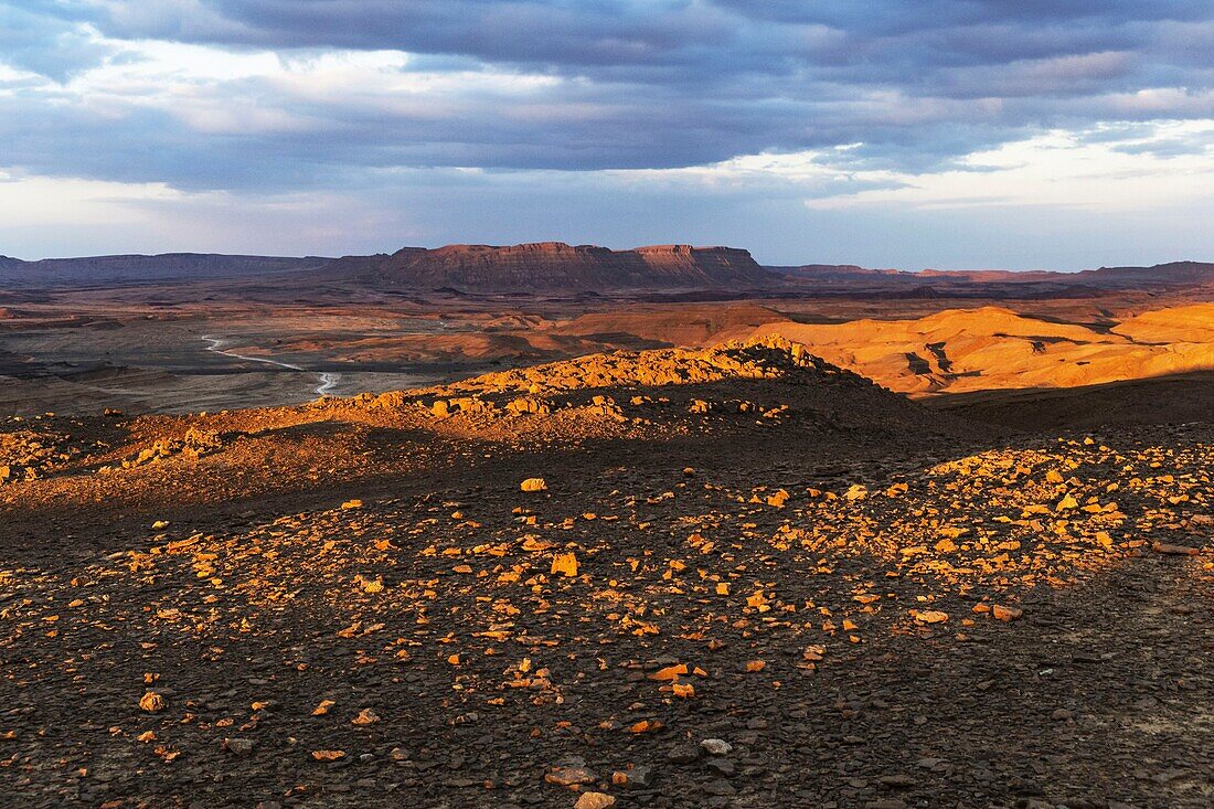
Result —
[{"label": "whole desert plain and rocky slopes below the distant mountains", "polygon": [[1207,800],[1206,287],[313,272],[13,295],[29,805]]}]

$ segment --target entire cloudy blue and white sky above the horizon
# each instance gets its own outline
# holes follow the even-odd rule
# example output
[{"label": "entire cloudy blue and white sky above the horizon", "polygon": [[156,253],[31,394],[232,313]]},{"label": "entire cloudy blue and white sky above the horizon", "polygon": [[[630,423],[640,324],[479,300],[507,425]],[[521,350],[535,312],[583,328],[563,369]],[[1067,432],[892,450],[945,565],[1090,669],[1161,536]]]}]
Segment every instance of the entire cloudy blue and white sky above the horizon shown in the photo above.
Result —
[{"label": "entire cloudy blue and white sky above the horizon", "polygon": [[1214,260],[1209,0],[0,0],[0,254]]}]

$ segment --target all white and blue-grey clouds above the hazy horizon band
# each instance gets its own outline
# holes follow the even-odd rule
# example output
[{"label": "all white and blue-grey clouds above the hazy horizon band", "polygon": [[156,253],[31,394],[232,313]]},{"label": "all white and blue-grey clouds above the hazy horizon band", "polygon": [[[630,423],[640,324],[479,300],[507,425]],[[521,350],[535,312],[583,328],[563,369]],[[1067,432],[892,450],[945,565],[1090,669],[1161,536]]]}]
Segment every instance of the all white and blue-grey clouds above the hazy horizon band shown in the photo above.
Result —
[{"label": "all white and blue-grey clouds above the hazy horizon band", "polygon": [[1214,140],[1212,49],[1206,0],[0,0],[0,163],[403,233],[444,228],[348,197],[414,183],[466,221],[460,189],[492,188],[518,238],[543,228],[504,183],[594,216],[579,177],[639,227],[619,200],[702,210],[693,188],[785,217],[1076,204],[1011,153],[1165,205]]}]

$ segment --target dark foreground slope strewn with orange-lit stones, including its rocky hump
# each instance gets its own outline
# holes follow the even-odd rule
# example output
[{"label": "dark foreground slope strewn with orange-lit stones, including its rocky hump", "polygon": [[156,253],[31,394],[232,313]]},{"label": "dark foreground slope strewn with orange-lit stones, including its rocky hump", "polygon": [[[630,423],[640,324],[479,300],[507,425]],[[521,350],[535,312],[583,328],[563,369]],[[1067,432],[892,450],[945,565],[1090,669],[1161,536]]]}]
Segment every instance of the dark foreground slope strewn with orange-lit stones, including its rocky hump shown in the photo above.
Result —
[{"label": "dark foreground slope strewn with orange-lit stones, including its rocky hump", "polygon": [[1209,422],[766,340],[4,430],[5,805],[1214,802]]}]

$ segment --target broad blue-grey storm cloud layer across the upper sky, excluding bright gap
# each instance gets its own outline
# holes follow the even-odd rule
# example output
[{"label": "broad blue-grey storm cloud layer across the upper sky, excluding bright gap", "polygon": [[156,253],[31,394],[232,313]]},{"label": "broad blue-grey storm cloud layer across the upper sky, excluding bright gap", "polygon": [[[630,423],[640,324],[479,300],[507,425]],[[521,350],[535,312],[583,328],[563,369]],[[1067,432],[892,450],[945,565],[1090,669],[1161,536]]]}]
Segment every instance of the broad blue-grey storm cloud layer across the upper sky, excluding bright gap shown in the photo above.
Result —
[{"label": "broad blue-grey storm cloud layer across the upper sky, excluding bright gap", "polygon": [[[405,70],[556,79],[523,94],[453,85],[429,107],[263,78],[203,83],[176,107],[119,98],[104,115],[36,90],[0,97],[0,165],[183,188],[323,186],[390,166],[676,168],[855,143],[822,159],[929,170],[1042,128],[1214,112],[1208,0],[0,0],[0,62],[61,83],[138,58],[121,43],[148,39],[403,50],[421,55]],[[214,132],[191,114],[203,104],[301,123]]]}]

